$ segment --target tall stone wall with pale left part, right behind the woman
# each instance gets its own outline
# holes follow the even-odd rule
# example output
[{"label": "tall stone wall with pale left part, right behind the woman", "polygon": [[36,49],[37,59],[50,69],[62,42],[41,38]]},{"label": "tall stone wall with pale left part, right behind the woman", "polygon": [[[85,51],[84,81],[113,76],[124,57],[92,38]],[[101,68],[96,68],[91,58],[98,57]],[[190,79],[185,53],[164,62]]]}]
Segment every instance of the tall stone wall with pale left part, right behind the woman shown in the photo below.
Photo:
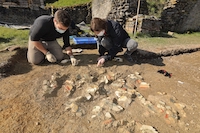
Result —
[{"label": "tall stone wall with pale left part, right behind the woman", "polygon": [[[113,19],[125,24],[137,14],[138,0],[93,0],[92,17]],[[148,14],[146,0],[141,0],[140,14]]]}]

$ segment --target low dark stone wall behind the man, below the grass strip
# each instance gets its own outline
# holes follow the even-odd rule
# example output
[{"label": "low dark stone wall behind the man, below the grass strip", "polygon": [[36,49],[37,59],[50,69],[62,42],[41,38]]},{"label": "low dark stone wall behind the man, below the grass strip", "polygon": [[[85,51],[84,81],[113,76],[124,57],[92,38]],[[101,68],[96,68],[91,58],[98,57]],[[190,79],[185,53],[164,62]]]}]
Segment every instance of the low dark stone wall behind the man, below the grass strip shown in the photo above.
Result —
[{"label": "low dark stone wall behind the man, below the grass strip", "polygon": [[[31,25],[34,20],[41,15],[52,15],[57,9],[42,9],[33,10],[23,7],[2,7],[0,6],[0,22],[16,25]],[[91,20],[90,5],[82,5],[69,7],[66,10],[71,15],[75,23],[82,21],[89,22]]]}]

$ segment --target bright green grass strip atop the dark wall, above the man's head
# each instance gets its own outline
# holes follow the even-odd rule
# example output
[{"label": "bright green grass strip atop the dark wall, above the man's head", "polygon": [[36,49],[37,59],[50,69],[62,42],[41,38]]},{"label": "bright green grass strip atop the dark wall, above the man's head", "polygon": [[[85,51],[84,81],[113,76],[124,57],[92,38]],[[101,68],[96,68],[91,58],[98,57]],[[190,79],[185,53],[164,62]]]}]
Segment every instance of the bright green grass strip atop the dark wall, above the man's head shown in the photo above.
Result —
[{"label": "bright green grass strip atop the dark wall, above the man's head", "polygon": [[46,0],[46,6],[54,8],[69,7],[91,2],[92,0]]}]

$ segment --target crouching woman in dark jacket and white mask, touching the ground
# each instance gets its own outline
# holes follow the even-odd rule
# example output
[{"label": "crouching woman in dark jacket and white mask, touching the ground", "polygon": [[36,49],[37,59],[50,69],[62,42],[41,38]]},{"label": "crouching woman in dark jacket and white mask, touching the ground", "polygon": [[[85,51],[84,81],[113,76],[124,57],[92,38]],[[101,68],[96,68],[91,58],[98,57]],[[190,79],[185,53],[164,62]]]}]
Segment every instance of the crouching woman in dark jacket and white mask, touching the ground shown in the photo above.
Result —
[{"label": "crouching woman in dark jacket and white mask, touching the ground", "polygon": [[[97,66],[101,66],[105,61],[112,60],[122,48],[127,48],[124,58],[133,62],[131,54],[137,49],[138,43],[130,38],[128,33],[116,21],[93,18],[90,29],[97,36],[97,48],[100,54]],[[105,55],[105,53],[108,54]]]}]

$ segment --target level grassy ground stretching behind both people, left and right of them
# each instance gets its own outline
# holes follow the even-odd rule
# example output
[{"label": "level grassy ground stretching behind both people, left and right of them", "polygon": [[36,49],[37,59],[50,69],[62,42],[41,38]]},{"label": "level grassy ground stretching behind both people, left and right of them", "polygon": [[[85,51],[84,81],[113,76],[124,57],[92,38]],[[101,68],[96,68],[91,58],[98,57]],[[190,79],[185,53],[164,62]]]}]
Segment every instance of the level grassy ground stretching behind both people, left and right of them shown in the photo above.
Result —
[{"label": "level grassy ground stretching behind both people, left and right of them", "polygon": [[[3,49],[10,45],[18,45],[21,47],[27,47],[28,44],[28,32],[29,30],[16,30],[5,27],[0,27],[0,49]],[[133,38],[133,34],[130,34]],[[134,38],[140,45],[140,48],[148,47],[168,47],[174,45],[199,45],[200,32],[177,34],[165,37],[149,37],[146,35],[138,35]],[[59,42],[62,43],[61,40]]]}]

